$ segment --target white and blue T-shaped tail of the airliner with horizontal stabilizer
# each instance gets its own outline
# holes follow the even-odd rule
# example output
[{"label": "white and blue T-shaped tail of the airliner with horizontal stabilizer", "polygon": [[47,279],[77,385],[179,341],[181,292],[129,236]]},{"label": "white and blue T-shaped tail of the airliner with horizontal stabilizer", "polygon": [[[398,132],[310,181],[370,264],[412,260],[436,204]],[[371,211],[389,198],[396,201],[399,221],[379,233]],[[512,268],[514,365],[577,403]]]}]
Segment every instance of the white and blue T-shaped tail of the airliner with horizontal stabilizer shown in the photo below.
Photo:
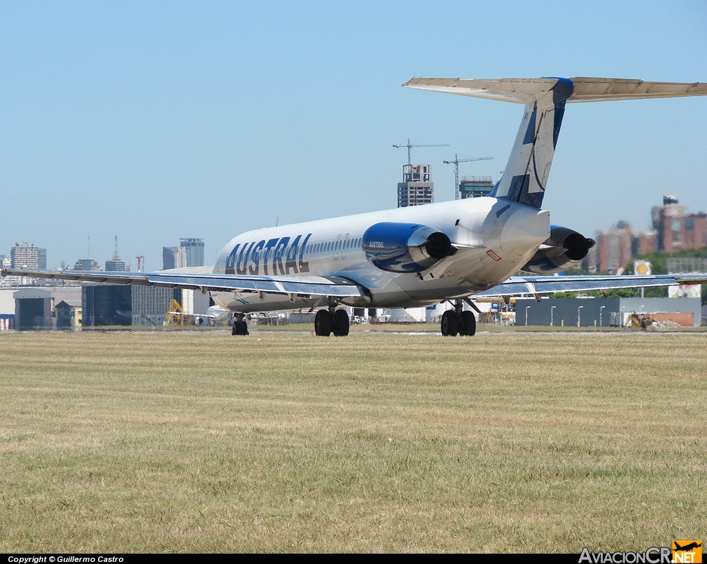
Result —
[{"label": "white and blue T-shaped tail of the airliner with horizontal stabilizer", "polygon": [[707,95],[705,83],[630,79],[411,79],[403,86],[525,104],[508,163],[492,195],[537,208],[542,206],[566,103]]}]

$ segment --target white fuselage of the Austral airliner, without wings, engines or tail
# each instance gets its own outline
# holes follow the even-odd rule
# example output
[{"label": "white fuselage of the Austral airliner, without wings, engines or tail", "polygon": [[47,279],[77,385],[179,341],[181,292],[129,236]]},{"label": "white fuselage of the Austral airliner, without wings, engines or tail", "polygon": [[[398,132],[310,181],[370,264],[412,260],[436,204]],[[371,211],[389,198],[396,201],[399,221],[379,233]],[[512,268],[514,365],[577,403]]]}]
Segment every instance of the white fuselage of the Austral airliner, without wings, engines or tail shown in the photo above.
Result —
[{"label": "white fuselage of the Austral airliner, without wings, engines or tail", "polygon": [[[422,272],[381,270],[366,258],[361,238],[380,222],[421,224],[446,234],[456,253]],[[346,277],[368,289],[360,307],[414,307],[466,297],[506,280],[549,236],[549,212],[495,197],[389,209],[247,231],[218,255],[214,273],[286,277]],[[215,292],[230,311],[250,313],[326,306],[317,297]]]}]

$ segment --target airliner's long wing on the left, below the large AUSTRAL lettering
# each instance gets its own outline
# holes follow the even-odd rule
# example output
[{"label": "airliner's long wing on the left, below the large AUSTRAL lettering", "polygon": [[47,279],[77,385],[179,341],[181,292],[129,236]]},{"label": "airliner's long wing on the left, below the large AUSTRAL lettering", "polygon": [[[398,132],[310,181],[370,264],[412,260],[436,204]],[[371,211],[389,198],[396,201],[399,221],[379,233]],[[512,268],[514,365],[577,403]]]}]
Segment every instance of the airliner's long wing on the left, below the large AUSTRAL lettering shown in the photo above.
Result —
[{"label": "airliner's long wing on the left, below the large AUSTRAL lettering", "polygon": [[366,297],[367,291],[340,276],[250,276],[163,272],[87,272],[83,270],[2,270],[3,276],[107,282],[135,286],[198,289],[203,292],[263,292],[308,296]]}]

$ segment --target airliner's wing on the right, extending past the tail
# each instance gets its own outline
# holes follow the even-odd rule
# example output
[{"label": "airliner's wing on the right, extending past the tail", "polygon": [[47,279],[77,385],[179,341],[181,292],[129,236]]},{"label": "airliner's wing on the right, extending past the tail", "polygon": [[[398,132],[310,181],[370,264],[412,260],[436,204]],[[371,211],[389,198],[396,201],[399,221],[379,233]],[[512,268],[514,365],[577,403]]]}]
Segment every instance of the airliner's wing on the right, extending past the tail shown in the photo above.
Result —
[{"label": "airliner's wing on the right, extending past the tail", "polygon": [[520,294],[550,294],[554,292],[584,292],[617,288],[648,288],[677,284],[707,284],[703,274],[666,274],[630,276],[512,276],[477,296],[501,297]]}]

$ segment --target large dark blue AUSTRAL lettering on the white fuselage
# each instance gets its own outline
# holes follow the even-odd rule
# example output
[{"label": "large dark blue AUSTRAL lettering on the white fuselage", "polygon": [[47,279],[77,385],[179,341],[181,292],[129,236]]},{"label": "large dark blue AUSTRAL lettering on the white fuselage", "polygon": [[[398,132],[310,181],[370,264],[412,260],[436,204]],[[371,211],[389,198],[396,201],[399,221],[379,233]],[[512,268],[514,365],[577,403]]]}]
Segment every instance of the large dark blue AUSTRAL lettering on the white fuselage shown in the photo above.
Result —
[{"label": "large dark blue AUSTRAL lettering on the white fuselage", "polygon": [[[250,245],[237,243],[226,258],[226,274],[257,276],[260,274],[260,265],[265,276],[309,272],[309,263],[303,258],[311,236],[310,233],[302,239],[303,236],[298,235],[291,243],[289,237],[273,238],[269,241],[262,239],[257,243],[253,241]],[[272,267],[271,271],[268,270],[269,265]]]}]

